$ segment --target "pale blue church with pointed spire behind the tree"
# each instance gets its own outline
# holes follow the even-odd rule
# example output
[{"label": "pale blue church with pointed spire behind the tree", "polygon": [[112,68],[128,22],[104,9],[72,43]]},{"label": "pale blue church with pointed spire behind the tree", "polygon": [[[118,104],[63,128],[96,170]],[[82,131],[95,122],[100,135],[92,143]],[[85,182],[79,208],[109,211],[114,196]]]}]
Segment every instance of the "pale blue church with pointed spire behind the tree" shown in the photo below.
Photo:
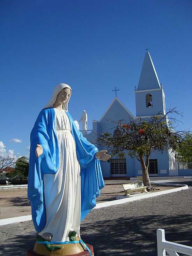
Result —
[{"label": "pale blue church with pointed spire behind the tree", "polygon": [[[83,136],[90,142],[95,141],[96,134],[105,132],[113,133],[114,123],[108,120],[124,120],[129,123],[130,120],[141,117],[150,118],[158,112],[165,114],[165,94],[162,85],[159,82],[152,58],[149,52],[146,52],[142,65],[138,87],[135,87],[136,116],[134,116],[127,107],[117,98],[111,102],[100,120],[93,121],[93,130],[83,132]],[[104,150],[95,144],[99,150]],[[141,176],[141,164],[135,158],[125,156],[124,159],[112,157],[109,162],[100,161],[103,177],[135,177]],[[175,156],[171,152],[164,151],[161,154],[158,151],[152,151],[149,160],[150,176],[177,176],[191,175],[192,170],[179,170]]]}]

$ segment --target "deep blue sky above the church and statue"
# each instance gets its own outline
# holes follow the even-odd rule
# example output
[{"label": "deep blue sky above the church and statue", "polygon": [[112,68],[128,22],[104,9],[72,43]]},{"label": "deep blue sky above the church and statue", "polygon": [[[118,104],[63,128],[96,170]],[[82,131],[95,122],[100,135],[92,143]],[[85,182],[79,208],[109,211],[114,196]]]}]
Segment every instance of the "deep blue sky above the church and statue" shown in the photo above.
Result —
[{"label": "deep blue sky above the church and statue", "polygon": [[[69,112],[88,129],[118,98],[135,115],[145,49],[166,107],[192,129],[192,1],[2,1],[0,153],[27,155],[30,131],[58,83],[72,87]],[[13,142],[17,139],[22,142]]]}]

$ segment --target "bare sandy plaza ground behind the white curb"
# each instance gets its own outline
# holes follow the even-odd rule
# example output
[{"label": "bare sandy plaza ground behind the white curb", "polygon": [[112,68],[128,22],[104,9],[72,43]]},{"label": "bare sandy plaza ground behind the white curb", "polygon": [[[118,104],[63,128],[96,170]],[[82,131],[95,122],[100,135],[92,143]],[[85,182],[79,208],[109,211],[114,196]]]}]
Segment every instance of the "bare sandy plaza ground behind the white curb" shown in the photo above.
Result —
[{"label": "bare sandy plaza ground behind the white curb", "polygon": [[[155,192],[174,188],[173,186],[160,185],[153,185],[153,187],[157,189]],[[97,203],[116,200],[119,195],[124,195],[121,184],[105,185],[101,190],[101,195],[97,198]],[[0,219],[29,214],[31,214],[31,206],[27,198],[27,188],[0,190]]]}]

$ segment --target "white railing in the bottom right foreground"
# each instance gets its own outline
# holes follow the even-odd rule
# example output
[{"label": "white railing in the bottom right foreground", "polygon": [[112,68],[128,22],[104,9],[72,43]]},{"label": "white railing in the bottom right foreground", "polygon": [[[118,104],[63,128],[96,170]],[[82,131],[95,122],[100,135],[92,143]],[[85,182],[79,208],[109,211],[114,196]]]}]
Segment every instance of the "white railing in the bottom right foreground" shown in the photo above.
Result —
[{"label": "white railing in the bottom right foreground", "polygon": [[157,229],[157,256],[165,256],[165,251],[170,256],[179,256],[178,253],[192,255],[192,247],[165,240],[164,229]]}]

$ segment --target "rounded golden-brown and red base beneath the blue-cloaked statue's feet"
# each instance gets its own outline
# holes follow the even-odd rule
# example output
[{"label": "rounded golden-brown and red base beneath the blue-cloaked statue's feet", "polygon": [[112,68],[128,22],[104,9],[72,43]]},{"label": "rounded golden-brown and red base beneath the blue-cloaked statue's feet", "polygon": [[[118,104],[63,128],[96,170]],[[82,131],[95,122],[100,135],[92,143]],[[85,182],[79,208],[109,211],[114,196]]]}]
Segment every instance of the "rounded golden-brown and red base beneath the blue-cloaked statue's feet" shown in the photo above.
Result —
[{"label": "rounded golden-brown and red base beneath the blue-cloaked statue's feet", "polygon": [[[37,237],[39,236],[37,235]],[[76,238],[76,241],[79,241],[79,237]],[[27,252],[27,256],[90,256],[89,251],[84,247],[85,244],[83,244],[42,244],[36,242],[34,248]],[[89,248],[91,256],[94,256],[93,246],[90,244],[86,244],[86,246]]]}]

